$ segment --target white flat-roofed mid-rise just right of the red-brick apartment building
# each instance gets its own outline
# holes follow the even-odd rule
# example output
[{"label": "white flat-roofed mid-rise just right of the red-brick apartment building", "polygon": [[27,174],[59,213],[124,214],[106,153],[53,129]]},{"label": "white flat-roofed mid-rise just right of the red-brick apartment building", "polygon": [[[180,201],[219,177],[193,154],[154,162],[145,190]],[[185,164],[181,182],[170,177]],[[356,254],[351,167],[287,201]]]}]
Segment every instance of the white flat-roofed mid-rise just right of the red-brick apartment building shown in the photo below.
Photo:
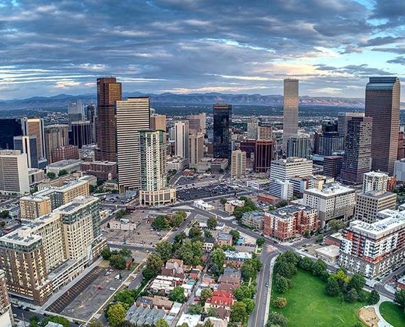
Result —
[{"label": "white flat-roofed mid-rise just right of the red-brick apartment building", "polygon": [[332,219],[347,221],[354,214],[356,191],[338,183],[323,185],[322,190],[304,190],[303,204],[318,210],[319,219],[325,225]]}]

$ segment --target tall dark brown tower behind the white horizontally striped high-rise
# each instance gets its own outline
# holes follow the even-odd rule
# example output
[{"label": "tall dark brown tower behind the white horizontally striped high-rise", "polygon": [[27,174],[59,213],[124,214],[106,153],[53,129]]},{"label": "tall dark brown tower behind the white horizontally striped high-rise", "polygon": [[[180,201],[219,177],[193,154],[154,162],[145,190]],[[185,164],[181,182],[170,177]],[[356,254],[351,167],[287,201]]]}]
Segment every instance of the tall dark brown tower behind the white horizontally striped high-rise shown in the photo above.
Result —
[{"label": "tall dark brown tower behind the white horizontally striped high-rise", "polygon": [[95,160],[117,161],[115,101],[121,100],[121,83],[115,77],[97,78],[97,148]]}]

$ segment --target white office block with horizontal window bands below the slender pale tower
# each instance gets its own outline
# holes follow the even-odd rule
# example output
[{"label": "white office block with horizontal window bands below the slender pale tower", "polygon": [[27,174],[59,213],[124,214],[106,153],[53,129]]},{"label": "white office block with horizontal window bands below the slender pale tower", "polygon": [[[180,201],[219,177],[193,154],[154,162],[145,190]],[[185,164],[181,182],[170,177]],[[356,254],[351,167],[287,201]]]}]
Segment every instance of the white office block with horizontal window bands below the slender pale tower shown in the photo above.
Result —
[{"label": "white office block with horizontal window bands below the slender pale tower", "polygon": [[270,179],[286,181],[292,177],[312,175],[312,160],[290,157],[271,161]]}]

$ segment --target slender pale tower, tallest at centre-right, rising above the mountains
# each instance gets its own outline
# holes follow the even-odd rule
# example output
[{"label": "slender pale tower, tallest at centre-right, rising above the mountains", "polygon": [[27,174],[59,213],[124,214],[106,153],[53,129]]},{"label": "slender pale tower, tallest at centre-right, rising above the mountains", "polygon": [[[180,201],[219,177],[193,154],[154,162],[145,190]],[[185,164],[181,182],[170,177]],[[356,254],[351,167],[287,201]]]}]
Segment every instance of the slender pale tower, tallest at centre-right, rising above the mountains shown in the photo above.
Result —
[{"label": "slender pale tower, tallest at centre-right, rising above the mountains", "polygon": [[283,147],[292,135],[298,134],[298,80],[284,80],[284,109],[283,109]]}]

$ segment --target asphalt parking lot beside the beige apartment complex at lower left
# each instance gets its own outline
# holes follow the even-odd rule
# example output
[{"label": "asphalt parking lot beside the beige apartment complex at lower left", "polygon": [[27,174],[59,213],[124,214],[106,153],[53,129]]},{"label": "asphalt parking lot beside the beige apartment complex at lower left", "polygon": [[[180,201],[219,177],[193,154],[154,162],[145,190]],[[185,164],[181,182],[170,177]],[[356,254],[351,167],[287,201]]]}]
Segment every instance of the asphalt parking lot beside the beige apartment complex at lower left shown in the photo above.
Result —
[{"label": "asphalt parking lot beside the beige apartment complex at lower left", "polygon": [[[115,278],[120,274],[121,278]],[[121,286],[130,271],[95,267],[58,298],[47,311],[87,320]]]}]

